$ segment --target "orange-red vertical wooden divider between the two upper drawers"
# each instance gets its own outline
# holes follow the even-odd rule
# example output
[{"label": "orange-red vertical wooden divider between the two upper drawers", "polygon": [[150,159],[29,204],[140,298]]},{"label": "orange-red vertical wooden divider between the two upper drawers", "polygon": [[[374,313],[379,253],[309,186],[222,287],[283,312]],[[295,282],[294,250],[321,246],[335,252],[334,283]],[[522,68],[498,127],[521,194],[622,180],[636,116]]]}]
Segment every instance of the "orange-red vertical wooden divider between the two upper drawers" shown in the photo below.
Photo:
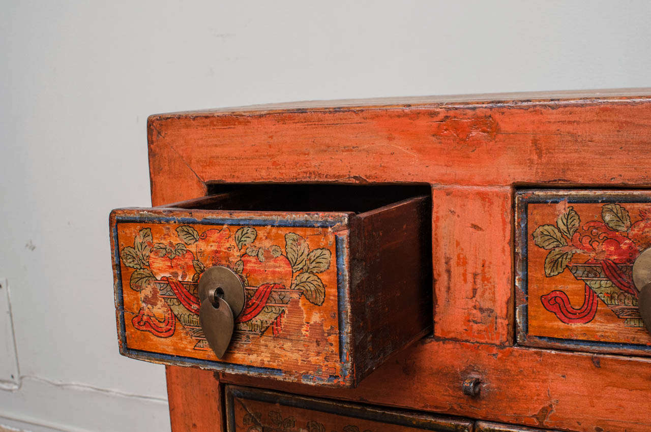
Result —
[{"label": "orange-red vertical wooden divider between the two upper drawers", "polygon": [[512,343],[512,191],[508,187],[432,189],[434,334]]}]

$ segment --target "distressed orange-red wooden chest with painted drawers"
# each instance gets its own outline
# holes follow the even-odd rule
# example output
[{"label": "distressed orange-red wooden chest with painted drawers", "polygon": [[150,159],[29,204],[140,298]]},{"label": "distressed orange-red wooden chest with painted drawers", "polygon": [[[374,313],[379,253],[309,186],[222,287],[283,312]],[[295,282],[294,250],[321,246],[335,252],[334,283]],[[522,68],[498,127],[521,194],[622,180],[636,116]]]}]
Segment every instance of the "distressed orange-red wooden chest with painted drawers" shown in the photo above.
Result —
[{"label": "distressed orange-red wooden chest with painted drawers", "polygon": [[[151,116],[120,350],[168,365],[175,431],[649,431],[650,126],[646,90]],[[217,264],[245,293],[221,358]]]}]

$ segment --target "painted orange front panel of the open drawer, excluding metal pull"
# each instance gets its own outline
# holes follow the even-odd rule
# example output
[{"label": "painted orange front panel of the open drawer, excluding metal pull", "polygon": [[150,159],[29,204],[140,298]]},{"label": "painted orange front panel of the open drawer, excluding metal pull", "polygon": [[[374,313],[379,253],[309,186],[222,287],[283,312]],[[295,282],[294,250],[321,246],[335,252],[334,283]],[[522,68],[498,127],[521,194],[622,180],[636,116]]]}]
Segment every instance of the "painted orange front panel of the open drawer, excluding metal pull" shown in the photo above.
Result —
[{"label": "painted orange front panel of the open drawer, excluding metal pull", "polygon": [[[124,354],[292,381],[345,381],[345,218],[186,213],[112,213]],[[197,281],[212,265],[236,271],[247,296],[221,360],[199,326]]]}]

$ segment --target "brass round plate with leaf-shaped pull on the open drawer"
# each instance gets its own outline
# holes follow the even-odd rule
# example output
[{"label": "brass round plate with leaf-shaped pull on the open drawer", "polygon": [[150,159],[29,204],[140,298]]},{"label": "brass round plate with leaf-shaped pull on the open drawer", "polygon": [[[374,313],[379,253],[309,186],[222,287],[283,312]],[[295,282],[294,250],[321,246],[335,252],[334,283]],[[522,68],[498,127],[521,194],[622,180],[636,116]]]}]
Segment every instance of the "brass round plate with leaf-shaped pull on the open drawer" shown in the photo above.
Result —
[{"label": "brass round plate with leaf-shaped pull on the open drawer", "polygon": [[199,325],[217,358],[224,357],[245,303],[244,284],[240,277],[221,265],[210,267],[199,279]]}]

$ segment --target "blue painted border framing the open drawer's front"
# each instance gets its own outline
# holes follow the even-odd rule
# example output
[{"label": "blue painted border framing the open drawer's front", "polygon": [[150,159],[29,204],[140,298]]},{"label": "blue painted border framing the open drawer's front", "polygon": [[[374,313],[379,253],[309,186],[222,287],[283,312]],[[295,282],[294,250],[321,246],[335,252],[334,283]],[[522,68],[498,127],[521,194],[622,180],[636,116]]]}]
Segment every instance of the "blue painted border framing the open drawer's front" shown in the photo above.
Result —
[{"label": "blue painted border framing the open drawer's front", "polygon": [[[113,226],[113,240],[115,244],[114,260],[115,271],[118,283],[115,286],[117,307],[120,313],[119,316],[119,334],[120,342],[122,343],[122,353],[124,355],[132,355],[135,357],[151,358],[152,360],[159,360],[161,362],[178,362],[183,361],[189,364],[196,364],[197,366],[206,366],[212,370],[223,372],[239,372],[249,374],[264,373],[265,375],[283,376],[283,370],[277,368],[262,368],[258,366],[246,366],[242,364],[234,364],[227,362],[219,362],[215,360],[202,360],[200,358],[177,356],[170,354],[154,353],[151,351],[143,351],[140,349],[132,349],[128,347],[126,342],[126,323],[124,321],[124,293],[122,292],[122,270],[120,268],[120,252],[118,243],[118,223],[193,223],[204,225],[215,224],[232,224],[232,225],[255,225],[255,226],[303,226],[314,228],[326,228],[335,226],[340,223],[345,223],[344,219],[333,219],[332,221],[268,221],[265,219],[228,219],[228,218],[204,218],[194,219],[189,217],[134,217],[134,216],[116,216],[115,224]],[[346,317],[348,312],[346,305],[348,304],[348,290],[347,280],[348,273],[346,271],[346,237],[340,236],[335,233],[335,260],[337,262],[337,315],[339,319],[339,359],[341,362],[342,376],[346,377],[351,369],[352,363],[346,360],[348,357],[348,332],[349,326]],[[342,331],[344,329],[344,331]],[[334,383],[341,379],[339,375],[330,375],[327,378],[318,377],[315,375],[304,375],[303,381],[311,382],[327,382]]]}]

